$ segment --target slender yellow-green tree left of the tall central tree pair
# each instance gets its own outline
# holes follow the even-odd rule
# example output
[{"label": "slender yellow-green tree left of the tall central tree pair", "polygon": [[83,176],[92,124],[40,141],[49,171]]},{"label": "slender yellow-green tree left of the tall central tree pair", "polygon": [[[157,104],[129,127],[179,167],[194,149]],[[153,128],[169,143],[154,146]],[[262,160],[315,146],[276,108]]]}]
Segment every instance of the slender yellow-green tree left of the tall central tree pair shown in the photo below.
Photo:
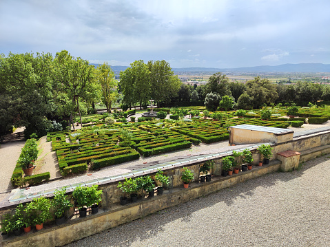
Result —
[{"label": "slender yellow-green tree left of the tall central tree pair", "polygon": [[118,98],[118,81],[114,78],[114,72],[107,63],[99,65],[96,73],[102,89],[102,101],[107,107],[107,112],[111,112],[111,105]]}]

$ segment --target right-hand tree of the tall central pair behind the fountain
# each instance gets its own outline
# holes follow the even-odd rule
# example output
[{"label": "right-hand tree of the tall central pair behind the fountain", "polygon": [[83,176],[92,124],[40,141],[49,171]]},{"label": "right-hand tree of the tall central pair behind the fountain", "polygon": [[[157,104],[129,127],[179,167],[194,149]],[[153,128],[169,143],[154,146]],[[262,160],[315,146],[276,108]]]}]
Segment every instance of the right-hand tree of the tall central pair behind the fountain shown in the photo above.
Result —
[{"label": "right-hand tree of the tall central pair behind the fountain", "polygon": [[169,103],[171,97],[178,95],[181,81],[174,76],[172,68],[166,61],[149,61],[147,63],[150,71],[151,96],[159,103]]}]

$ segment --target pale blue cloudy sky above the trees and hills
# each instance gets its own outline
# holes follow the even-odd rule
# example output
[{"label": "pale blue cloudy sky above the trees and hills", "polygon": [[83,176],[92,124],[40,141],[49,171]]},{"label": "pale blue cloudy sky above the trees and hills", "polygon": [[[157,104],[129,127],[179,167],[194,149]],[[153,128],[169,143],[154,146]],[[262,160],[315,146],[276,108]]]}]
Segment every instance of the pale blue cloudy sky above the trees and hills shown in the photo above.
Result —
[{"label": "pale blue cloudy sky above the trees and hills", "polygon": [[329,0],[0,0],[0,54],[90,63],[330,64]]}]

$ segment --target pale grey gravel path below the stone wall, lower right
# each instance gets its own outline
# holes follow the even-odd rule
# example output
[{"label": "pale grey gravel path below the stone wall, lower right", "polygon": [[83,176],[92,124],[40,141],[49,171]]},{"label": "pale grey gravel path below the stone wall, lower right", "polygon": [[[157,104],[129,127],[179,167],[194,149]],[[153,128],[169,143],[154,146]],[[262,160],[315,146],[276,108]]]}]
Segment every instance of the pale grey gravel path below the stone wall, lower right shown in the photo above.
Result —
[{"label": "pale grey gravel path below the stone wall, lower right", "polygon": [[329,167],[323,156],[67,246],[330,246]]}]

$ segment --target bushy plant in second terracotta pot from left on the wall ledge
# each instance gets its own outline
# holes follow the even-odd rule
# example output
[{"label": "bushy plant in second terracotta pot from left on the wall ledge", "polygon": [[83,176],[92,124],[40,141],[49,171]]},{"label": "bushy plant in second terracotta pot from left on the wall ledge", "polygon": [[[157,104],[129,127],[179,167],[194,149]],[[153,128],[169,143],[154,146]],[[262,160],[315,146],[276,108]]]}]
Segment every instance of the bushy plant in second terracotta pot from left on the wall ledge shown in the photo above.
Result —
[{"label": "bushy plant in second terracotta pot from left on the wall ledge", "polygon": [[50,215],[50,200],[45,197],[34,198],[28,206],[32,209],[32,223],[35,224],[37,230],[41,230],[43,223],[52,216]]}]

